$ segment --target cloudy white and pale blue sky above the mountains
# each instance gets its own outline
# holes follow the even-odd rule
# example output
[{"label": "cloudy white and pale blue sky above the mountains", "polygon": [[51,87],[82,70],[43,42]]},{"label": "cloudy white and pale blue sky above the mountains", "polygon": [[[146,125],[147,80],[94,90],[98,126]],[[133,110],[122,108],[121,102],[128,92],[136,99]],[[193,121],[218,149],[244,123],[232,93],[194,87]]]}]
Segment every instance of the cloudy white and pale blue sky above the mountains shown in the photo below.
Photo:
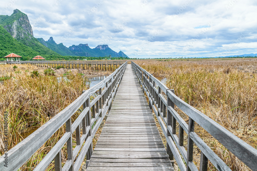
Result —
[{"label": "cloudy white and pale blue sky above the mountains", "polygon": [[257,53],[256,0],[7,0],[0,14],[16,8],[34,37],[67,47],[107,44],[137,58]]}]

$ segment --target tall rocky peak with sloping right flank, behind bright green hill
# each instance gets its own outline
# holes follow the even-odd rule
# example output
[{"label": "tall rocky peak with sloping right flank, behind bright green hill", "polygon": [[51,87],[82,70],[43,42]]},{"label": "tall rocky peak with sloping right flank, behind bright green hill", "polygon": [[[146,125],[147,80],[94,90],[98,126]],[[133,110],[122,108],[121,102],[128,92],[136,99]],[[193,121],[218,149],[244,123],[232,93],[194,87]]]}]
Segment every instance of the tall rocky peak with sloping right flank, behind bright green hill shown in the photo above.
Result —
[{"label": "tall rocky peak with sloping right flank, behind bright green hill", "polygon": [[39,54],[60,56],[34,38],[28,16],[19,9],[15,9],[11,16],[0,15],[0,25],[18,42],[29,46]]}]

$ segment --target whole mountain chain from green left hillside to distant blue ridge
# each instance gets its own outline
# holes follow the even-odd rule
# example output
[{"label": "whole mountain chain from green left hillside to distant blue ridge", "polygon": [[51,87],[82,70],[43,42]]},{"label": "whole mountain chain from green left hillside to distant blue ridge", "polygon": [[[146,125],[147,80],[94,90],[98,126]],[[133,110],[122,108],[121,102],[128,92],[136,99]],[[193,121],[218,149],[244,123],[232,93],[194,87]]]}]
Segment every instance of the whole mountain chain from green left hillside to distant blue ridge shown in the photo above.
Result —
[{"label": "whole mountain chain from green left hillside to distant blue ridge", "polygon": [[[8,41],[7,41],[8,40]],[[122,51],[113,51],[108,45],[98,45],[91,49],[88,44],[72,45],[69,48],[57,44],[52,37],[48,41],[33,36],[29,18],[15,9],[11,16],[0,15],[0,58],[9,53],[23,56],[22,60],[41,55],[46,59],[63,59],[62,56],[85,57],[127,57]]]}]

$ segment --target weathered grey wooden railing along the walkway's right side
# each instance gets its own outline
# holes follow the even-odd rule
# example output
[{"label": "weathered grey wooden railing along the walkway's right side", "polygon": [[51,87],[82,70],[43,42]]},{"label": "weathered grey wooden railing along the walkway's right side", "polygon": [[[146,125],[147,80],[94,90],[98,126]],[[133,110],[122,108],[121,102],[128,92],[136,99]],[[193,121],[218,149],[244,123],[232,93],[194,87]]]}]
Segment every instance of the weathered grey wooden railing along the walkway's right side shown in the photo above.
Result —
[{"label": "weathered grey wooden railing along the walkway's right side", "polygon": [[[153,109],[166,137],[167,153],[170,156],[170,160],[173,160],[174,157],[181,171],[198,170],[193,163],[194,143],[201,150],[200,171],[207,171],[208,160],[217,170],[231,170],[194,132],[195,122],[216,138],[249,168],[257,170],[257,150],[255,148],[181,100],[174,94],[174,90],[168,89],[157,78],[134,62],[132,62],[132,67],[139,79],[139,83],[142,85],[143,92],[145,92],[149,98],[149,106]],[[174,105],[188,115],[189,125],[182,119],[176,110],[174,110]],[[179,128],[178,136],[176,134],[177,126]],[[187,150],[183,144],[184,131],[188,135]],[[182,158],[186,164],[184,164]]]}]

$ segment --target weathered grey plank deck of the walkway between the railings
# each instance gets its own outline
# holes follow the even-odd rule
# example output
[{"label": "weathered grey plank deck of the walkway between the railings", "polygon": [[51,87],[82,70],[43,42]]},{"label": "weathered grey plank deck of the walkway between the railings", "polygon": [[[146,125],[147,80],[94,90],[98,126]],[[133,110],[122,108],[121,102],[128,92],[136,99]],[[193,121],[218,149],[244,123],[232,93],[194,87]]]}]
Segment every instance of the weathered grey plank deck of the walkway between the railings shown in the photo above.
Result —
[{"label": "weathered grey plank deck of the walkway between the railings", "polygon": [[87,170],[173,170],[152,110],[127,65]]}]

